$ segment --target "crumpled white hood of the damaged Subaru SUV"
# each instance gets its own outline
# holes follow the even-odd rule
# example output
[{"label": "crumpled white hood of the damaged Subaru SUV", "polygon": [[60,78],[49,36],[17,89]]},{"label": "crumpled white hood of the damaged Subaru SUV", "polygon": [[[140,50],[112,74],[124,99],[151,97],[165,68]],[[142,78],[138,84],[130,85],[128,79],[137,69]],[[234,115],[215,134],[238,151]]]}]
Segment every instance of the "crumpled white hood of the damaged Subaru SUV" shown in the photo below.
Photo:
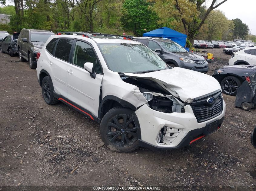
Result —
[{"label": "crumpled white hood of the damaged Subaru SUV", "polygon": [[215,78],[179,67],[145,74],[124,74],[126,76],[146,78],[155,81],[173,96],[179,97],[182,101],[188,103],[191,103],[192,99],[196,97],[221,90],[221,86]]}]

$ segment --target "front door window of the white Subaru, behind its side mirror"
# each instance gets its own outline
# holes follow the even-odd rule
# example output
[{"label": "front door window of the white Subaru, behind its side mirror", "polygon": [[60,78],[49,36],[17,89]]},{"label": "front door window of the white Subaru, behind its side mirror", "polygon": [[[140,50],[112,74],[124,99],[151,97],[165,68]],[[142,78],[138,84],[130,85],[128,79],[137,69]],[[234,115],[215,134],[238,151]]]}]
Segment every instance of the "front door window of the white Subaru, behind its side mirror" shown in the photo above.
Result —
[{"label": "front door window of the white Subaru, behind its side mirror", "polygon": [[93,71],[102,73],[100,63],[91,45],[82,41],[76,41],[72,63],[84,68],[86,62],[93,63]]}]

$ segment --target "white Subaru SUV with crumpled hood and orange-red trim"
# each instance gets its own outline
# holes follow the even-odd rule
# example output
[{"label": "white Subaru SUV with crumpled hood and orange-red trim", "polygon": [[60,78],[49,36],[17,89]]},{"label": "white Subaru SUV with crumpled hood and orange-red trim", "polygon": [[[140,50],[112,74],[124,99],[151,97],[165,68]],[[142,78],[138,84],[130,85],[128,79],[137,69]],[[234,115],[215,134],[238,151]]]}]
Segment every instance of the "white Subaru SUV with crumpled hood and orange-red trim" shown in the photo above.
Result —
[{"label": "white Subaru SUV with crumpled hood and orange-red trim", "polygon": [[100,123],[108,148],[180,148],[220,128],[225,102],[213,77],[171,68],[127,37],[57,34],[37,55],[43,98]]}]

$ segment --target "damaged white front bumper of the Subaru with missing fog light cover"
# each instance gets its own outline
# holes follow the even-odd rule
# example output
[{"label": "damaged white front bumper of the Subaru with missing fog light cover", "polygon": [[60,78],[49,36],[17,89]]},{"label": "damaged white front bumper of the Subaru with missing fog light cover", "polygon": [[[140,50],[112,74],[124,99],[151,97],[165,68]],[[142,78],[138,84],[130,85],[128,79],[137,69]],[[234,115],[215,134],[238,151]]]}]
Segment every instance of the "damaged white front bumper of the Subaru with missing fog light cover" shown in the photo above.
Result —
[{"label": "damaged white front bumper of the Subaru with missing fog light cover", "polygon": [[[193,140],[204,137],[208,124],[216,122],[221,126],[226,111],[226,104],[223,100],[222,113],[210,120],[198,123],[191,106],[184,106],[185,113],[162,113],[149,108],[146,104],[140,107],[135,113],[141,129],[139,145],[152,150],[170,150],[190,145]],[[173,141],[168,144],[159,144],[157,136],[164,127],[178,129],[179,133]]]}]

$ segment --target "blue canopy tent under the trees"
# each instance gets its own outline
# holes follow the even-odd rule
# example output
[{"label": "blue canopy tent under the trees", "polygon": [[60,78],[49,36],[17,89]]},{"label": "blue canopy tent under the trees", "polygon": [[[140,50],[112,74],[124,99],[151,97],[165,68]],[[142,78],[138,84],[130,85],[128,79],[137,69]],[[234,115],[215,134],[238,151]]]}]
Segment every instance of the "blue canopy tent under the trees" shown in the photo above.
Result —
[{"label": "blue canopy tent under the trees", "polygon": [[143,37],[168,38],[168,39],[171,39],[174,42],[180,44],[183,47],[186,46],[186,40],[187,40],[187,35],[179,33],[176,30],[172,30],[168,27],[161,27],[159,29],[144,33]]}]

